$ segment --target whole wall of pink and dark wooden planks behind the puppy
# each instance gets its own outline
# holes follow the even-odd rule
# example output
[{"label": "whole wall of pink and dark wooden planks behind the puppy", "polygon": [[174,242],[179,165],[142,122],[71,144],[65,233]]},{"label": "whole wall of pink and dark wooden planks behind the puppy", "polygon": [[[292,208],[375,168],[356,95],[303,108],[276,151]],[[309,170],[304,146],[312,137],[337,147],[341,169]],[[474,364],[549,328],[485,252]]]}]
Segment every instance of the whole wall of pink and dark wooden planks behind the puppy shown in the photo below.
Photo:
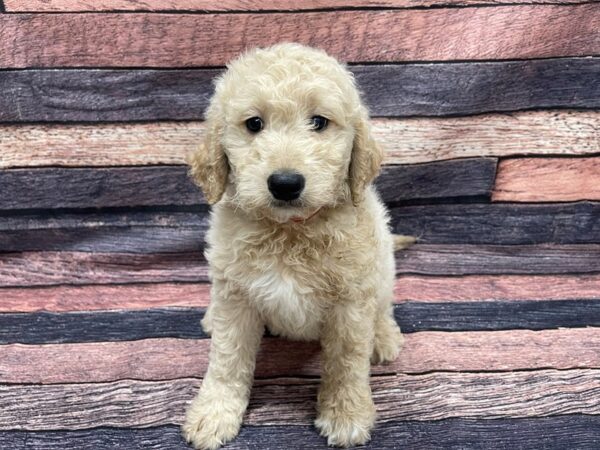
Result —
[{"label": "whole wall of pink and dark wooden planks behind the puppy", "polygon": [[[350,63],[419,236],[366,448],[597,447],[599,30],[589,0],[0,2],[0,448],[187,448],[209,285],[184,157],[224,64],[290,40]],[[228,448],[324,448],[318,373],[266,337]]]}]

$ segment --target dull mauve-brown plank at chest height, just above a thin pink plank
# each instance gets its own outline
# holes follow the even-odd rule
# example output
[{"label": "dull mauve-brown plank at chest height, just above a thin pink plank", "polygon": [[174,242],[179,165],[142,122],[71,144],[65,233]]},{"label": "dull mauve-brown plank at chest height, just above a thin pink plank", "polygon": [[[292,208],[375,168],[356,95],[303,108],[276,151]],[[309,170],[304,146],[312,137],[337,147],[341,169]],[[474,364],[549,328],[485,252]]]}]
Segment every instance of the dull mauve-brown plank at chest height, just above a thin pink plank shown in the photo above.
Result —
[{"label": "dull mauve-brown plank at chest height, just above a thin pink plank", "polygon": [[[540,275],[600,272],[600,245],[427,245],[396,255],[397,274]],[[0,254],[0,287],[206,282],[201,253]]]}]

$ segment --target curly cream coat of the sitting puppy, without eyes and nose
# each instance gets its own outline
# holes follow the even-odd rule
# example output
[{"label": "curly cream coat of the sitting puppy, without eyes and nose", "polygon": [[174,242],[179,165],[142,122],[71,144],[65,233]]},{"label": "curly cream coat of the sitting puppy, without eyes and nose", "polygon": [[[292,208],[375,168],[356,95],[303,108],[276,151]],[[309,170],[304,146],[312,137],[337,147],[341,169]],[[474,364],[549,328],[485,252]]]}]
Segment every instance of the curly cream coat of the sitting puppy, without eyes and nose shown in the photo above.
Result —
[{"label": "curly cream coat of the sitting puppy, without eyes and nose", "polygon": [[[330,119],[322,132],[309,119]],[[256,134],[244,126],[260,116]],[[239,431],[264,327],[320,340],[315,425],[330,445],[363,444],[375,408],[370,362],[402,342],[392,316],[394,242],[371,181],[381,149],[352,75],[324,52],[297,44],[251,51],[217,81],[209,132],[191,175],[215,203],[207,235],[209,368],[183,433],[215,449]],[[267,187],[281,169],[304,175],[299,201],[282,206]],[[302,220],[304,219],[304,220]]]}]

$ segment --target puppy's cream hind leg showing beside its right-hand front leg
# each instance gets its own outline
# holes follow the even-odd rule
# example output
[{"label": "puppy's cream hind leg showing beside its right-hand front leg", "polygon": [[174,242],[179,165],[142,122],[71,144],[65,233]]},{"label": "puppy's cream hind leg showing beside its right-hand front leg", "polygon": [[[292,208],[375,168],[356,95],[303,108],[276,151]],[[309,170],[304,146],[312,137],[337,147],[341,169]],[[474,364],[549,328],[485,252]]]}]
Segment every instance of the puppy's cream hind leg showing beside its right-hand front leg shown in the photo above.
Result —
[{"label": "puppy's cream hind leg showing beside its right-hand front leg", "polygon": [[371,363],[386,364],[396,360],[404,337],[394,319],[394,311],[389,302],[381,304],[375,318],[375,341]]}]

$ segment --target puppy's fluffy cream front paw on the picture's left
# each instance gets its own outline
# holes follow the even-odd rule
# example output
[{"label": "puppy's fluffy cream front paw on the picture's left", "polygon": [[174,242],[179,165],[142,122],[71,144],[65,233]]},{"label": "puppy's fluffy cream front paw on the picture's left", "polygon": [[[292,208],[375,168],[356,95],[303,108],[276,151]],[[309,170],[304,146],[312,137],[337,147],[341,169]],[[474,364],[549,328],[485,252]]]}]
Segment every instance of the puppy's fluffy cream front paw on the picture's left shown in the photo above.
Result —
[{"label": "puppy's fluffy cream front paw on the picture's left", "polygon": [[194,400],[181,427],[183,437],[194,448],[217,449],[237,436],[242,424],[242,413],[225,409],[221,402],[207,401],[201,404]]}]

